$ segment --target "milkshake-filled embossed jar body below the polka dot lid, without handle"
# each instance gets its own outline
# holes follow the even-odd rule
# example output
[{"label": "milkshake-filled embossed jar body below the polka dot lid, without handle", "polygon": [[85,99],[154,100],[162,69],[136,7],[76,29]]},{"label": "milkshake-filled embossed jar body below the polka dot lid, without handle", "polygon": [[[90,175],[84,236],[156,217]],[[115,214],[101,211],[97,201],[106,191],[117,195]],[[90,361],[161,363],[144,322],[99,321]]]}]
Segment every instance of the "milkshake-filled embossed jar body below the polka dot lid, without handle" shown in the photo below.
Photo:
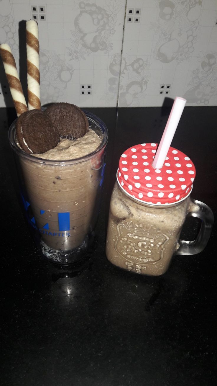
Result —
[{"label": "milkshake-filled embossed jar body below the polka dot lid, without handle", "polygon": [[163,274],[178,249],[190,198],[166,208],[129,200],[114,185],[106,256],[114,265],[149,275]]}]

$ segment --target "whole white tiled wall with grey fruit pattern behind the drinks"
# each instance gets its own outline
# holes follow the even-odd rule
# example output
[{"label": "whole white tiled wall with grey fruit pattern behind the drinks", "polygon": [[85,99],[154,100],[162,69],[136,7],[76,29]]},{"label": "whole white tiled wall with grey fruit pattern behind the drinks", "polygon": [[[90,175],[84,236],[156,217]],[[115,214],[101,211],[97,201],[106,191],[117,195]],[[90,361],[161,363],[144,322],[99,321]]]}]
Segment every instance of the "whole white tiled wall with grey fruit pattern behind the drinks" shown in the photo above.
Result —
[{"label": "whole white tiled wall with grey fruit pattern behind the drinks", "polygon": [[176,95],[217,105],[217,0],[2,0],[0,42],[17,66],[19,22],[33,14],[42,105],[161,106]]}]

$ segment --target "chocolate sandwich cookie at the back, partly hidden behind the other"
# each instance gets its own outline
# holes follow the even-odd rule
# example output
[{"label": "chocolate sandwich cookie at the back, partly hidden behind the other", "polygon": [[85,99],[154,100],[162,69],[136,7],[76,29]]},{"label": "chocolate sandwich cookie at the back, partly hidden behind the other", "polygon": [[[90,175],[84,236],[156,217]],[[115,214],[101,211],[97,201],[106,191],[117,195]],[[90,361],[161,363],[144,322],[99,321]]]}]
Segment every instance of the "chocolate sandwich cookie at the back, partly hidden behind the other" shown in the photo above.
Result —
[{"label": "chocolate sandwich cookie at the back, partly hidden behind the other", "polygon": [[55,103],[45,110],[61,138],[77,139],[89,131],[87,117],[70,103]]}]

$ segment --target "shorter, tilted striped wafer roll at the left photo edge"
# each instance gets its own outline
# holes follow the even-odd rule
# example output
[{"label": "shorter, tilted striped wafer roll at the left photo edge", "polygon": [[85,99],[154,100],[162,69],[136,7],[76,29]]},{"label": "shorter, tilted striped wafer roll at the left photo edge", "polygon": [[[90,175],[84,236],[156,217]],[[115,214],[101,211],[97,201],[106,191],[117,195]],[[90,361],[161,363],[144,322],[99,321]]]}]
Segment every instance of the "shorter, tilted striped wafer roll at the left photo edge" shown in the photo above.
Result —
[{"label": "shorter, tilted striped wafer roll at the left photo edge", "polygon": [[8,44],[3,43],[0,45],[0,55],[2,57],[5,74],[13,98],[13,104],[16,109],[17,116],[19,117],[20,114],[28,111],[28,108],[20,83],[19,75],[17,73],[16,63]]}]

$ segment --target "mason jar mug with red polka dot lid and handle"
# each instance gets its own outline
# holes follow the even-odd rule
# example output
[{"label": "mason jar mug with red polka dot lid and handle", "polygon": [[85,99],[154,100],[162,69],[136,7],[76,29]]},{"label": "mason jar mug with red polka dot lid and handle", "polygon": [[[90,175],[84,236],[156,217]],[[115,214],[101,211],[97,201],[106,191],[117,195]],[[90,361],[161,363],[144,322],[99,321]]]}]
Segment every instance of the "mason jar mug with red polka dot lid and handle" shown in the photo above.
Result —
[{"label": "mason jar mug with red polka dot lid and handle", "polygon": [[[195,167],[170,147],[161,169],[152,167],[157,145],[127,149],[119,160],[111,196],[106,256],[128,271],[161,275],[172,256],[201,252],[210,237],[214,216],[204,203],[190,198]],[[202,220],[197,239],[181,240],[187,216]]]}]

